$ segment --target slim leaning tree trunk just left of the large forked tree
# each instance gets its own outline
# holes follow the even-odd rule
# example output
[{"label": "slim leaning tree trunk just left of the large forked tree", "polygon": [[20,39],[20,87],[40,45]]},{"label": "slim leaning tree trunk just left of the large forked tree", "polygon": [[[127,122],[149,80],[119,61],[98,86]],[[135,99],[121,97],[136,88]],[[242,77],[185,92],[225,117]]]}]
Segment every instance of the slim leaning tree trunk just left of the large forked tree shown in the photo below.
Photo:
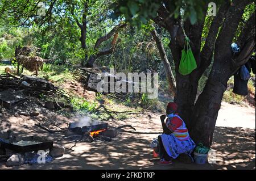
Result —
[{"label": "slim leaning tree trunk just left of the large forked tree", "polygon": [[172,73],[171,65],[170,62],[168,61],[167,55],[166,55],[166,50],[164,50],[162,40],[160,39],[158,33],[154,30],[151,32],[152,36],[154,37],[156,46],[158,47],[159,54],[161,57],[161,60],[164,64],[164,70],[166,71],[166,78],[167,82],[170,88],[170,91],[173,96],[176,95],[176,82],[174,78],[174,74]]}]

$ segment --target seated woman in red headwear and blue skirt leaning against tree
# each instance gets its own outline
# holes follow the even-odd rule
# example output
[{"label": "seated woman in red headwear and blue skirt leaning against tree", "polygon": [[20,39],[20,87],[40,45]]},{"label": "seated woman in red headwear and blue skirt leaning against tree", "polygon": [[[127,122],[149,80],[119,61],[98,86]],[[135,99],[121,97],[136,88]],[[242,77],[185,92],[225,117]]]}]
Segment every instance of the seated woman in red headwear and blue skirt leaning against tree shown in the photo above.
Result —
[{"label": "seated woman in red headwear and blue skirt leaning against tree", "polygon": [[166,122],[164,122],[166,115],[160,116],[163,134],[158,137],[159,165],[171,165],[171,159],[177,158],[179,154],[184,153],[191,157],[190,154],[196,146],[189,137],[184,121],[176,111],[177,104],[168,103]]}]

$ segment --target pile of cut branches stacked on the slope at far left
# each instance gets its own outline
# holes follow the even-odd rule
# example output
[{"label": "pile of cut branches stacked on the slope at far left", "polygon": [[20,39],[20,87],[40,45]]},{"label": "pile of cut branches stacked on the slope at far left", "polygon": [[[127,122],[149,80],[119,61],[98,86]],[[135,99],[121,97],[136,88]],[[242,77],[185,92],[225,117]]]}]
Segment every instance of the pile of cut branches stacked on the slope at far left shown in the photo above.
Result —
[{"label": "pile of cut branches stacked on the slope at far left", "polygon": [[13,89],[23,90],[24,94],[32,96],[55,96],[60,95],[68,98],[64,90],[55,87],[45,79],[24,75],[22,78],[15,77],[9,73],[0,75],[0,91]]}]

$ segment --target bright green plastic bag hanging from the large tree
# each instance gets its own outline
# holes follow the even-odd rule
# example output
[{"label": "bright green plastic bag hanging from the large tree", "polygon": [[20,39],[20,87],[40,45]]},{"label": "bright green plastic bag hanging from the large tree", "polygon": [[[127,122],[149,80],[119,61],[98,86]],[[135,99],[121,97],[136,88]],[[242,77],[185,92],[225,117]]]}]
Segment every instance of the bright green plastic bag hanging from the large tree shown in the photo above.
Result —
[{"label": "bright green plastic bag hanging from the large tree", "polygon": [[189,39],[188,37],[186,37],[184,49],[181,51],[179,73],[181,75],[188,75],[196,68],[197,68],[196,60],[195,60],[195,57],[193,56],[193,52],[189,45]]}]

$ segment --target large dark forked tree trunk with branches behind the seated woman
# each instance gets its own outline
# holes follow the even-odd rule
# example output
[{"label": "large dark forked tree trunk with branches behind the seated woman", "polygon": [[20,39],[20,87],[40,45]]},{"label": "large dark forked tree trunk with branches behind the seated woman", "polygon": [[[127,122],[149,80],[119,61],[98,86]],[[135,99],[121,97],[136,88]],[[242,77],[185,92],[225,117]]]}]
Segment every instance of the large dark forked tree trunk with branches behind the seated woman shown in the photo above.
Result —
[{"label": "large dark forked tree trunk with branches behind the seated woman", "polygon": [[[168,1],[166,2],[168,3]],[[195,25],[185,22],[184,29],[191,40],[192,52],[197,62],[197,69],[186,76],[179,74],[178,71],[181,50],[184,45],[180,19],[170,16],[166,9],[167,5],[166,7],[161,6],[158,17],[153,19],[155,23],[166,28],[170,33],[170,48],[176,67],[177,94],[175,102],[178,104],[178,112],[187,124],[189,133],[196,144],[199,142],[205,146],[212,144],[218,111],[227,82],[246,63],[255,49],[255,12],[247,20],[240,37],[238,37],[237,43],[241,47],[241,52],[234,55],[230,48],[244,9],[252,2],[252,0],[234,0],[232,4],[224,2],[213,19],[202,50],[201,33],[204,22],[198,22]],[[213,68],[203,92],[196,100],[199,79],[210,65],[213,52]]]}]

